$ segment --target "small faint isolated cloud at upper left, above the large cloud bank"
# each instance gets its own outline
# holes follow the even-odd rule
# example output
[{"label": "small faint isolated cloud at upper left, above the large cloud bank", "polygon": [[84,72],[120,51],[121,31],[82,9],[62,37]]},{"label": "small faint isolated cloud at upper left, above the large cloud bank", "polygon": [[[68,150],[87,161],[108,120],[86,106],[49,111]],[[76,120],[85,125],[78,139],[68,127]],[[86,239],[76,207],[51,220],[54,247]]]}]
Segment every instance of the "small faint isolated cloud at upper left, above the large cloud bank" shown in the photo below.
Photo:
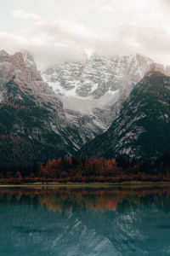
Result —
[{"label": "small faint isolated cloud at upper left, above the large cloud bank", "polygon": [[32,21],[37,21],[40,20],[40,16],[36,15],[34,13],[26,13],[23,9],[14,9],[11,12],[11,15],[20,20],[32,20]]}]

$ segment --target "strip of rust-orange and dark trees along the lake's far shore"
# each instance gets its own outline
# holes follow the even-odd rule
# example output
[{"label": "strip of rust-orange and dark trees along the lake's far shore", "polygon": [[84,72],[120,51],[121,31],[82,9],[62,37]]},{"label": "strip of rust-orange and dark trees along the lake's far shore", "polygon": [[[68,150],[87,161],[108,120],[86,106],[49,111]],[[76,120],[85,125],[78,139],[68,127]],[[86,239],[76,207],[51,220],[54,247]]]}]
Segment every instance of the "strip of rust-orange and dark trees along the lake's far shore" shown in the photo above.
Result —
[{"label": "strip of rust-orange and dark trees along the lake's far shore", "polygon": [[60,157],[45,164],[1,166],[0,183],[123,183],[170,181],[170,157],[157,160]]}]

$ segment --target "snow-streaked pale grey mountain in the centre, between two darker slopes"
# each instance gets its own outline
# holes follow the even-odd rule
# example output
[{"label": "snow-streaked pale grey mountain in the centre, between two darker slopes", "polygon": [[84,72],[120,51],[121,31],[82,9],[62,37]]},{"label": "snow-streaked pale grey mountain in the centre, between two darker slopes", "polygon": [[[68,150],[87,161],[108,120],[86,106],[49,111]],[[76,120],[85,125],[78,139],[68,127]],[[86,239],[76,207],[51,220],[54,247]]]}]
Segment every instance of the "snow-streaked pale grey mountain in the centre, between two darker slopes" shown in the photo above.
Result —
[{"label": "snow-streaked pale grey mountain in the centre, between two darker slopes", "polygon": [[[63,102],[68,119],[79,123],[79,117],[90,118],[85,129],[93,138],[109,128],[134,85],[152,68],[167,72],[142,55],[92,55],[85,63],[50,67],[42,78]],[[78,129],[85,143],[87,133]]]}]

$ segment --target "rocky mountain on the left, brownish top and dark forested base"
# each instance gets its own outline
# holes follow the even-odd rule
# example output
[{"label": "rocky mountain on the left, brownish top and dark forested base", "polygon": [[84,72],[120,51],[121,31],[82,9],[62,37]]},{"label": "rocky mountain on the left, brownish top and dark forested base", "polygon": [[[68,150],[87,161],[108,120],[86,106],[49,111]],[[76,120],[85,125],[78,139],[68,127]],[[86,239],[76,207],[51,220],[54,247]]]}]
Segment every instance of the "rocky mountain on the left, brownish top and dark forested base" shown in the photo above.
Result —
[{"label": "rocky mountain on the left, brownish top and dark forested base", "polygon": [[0,101],[2,163],[30,164],[77,150],[76,126],[29,55],[0,52]]}]

